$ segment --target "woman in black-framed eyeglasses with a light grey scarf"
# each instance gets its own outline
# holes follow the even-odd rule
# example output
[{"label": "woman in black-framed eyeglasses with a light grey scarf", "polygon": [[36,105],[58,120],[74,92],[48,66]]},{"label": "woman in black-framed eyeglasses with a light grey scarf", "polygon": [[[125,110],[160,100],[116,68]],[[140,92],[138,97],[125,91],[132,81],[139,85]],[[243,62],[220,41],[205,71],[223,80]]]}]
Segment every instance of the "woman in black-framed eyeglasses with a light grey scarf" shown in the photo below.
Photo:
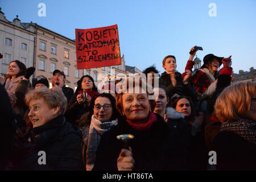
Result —
[{"label": "woman in black-framed eyeglasses with a light grey scarf", "polygon": [[101,136],[109,131],[111,127],[117,125],[119,112],[115,105],[115,98],[109,93],[99,94],[92,101],[92,109],[88,115],[90,125],[82,128],[84,140],[84,158],[86,156],[86,170],[91,171],[96,158],[96,151],[100,143]]}]

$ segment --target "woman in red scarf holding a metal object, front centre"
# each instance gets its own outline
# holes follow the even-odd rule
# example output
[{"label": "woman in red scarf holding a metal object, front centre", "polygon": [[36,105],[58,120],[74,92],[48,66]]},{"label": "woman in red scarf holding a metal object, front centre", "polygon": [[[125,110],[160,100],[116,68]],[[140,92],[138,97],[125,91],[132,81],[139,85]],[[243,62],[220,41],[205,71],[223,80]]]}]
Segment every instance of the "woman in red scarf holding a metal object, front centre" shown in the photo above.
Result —
[{"label": "woman in red scarf holding a metal object, front centre", "polygon": [[[146,85],[135,81],[122,85],[117,96],[117,108],[122,114],[118,125],[106,132],[96,153],[94,170],[170,170],[182,169],[181,143],[168,132],[168,124],[152,112],[154,100],[149,100]],[[151,93],[151,92],[149,92]],[[118,135],[131,134],[130,147],[122,146]],[[179,144],[177,144],[179,143]]]}]

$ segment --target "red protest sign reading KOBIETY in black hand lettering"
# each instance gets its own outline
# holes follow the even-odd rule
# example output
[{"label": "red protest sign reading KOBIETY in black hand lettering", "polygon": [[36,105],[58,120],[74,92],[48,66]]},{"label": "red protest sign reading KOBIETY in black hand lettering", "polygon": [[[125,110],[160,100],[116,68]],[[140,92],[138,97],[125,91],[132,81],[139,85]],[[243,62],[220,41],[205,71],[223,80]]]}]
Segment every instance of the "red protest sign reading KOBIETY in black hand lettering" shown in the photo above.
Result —
[{"label": "red protest sign reading KOBIETY in black hand lettering", "polygon": [[117,24],[109,27],[76,29],[77,69],[121,64]]}]

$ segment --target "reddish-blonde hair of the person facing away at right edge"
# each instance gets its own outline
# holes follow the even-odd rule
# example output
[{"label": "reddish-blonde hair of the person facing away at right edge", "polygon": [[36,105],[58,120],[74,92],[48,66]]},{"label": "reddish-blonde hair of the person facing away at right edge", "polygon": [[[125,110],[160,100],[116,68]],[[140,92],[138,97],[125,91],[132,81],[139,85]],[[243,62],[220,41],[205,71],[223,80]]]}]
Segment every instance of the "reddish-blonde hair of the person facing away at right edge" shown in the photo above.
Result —
[{"label": "reddish-blonde hair of the person facing away at right edge", "polygon": [[247,118],[255,88],[255,81],[239,82],[225,88],[214,105],[216,117],[222,123]]}]

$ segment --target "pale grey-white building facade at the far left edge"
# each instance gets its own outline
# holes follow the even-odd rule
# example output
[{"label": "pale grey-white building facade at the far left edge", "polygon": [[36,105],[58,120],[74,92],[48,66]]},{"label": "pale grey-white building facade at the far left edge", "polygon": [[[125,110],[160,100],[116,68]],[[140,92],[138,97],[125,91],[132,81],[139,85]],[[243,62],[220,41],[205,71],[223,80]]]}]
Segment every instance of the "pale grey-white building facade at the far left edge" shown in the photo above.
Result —
[{"label": "pale grey-white building facade at the far left edge", "polygon": [[9,69],[13,60],[22,61],[26,67],[34,65],[35,27],[20,22],[18,15],[10,22],[0,9],[0,60],[1,76]]}]

